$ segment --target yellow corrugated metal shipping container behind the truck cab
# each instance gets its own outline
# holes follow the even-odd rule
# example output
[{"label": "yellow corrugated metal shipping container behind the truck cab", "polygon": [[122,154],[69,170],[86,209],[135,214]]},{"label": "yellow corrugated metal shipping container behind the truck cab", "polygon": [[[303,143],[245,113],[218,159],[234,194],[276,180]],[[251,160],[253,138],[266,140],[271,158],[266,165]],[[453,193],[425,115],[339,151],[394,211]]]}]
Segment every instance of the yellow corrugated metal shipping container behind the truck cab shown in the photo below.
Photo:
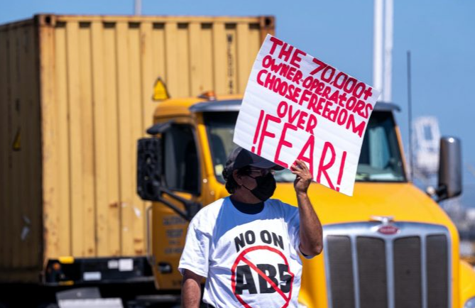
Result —
[{"label": "yellow corrugated metal shipping container behind the truck cab", "polygon": [[273,18],[38,15],[0,26],[0,281],[146,253],[136,141],[153,85],[244,93]]}]

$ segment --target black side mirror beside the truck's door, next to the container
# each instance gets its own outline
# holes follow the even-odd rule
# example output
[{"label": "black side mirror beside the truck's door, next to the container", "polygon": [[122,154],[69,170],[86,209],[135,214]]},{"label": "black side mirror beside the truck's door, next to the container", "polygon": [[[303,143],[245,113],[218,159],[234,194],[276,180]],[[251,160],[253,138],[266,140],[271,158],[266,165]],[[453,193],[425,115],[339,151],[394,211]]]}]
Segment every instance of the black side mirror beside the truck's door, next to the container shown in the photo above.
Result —
[{"label": "black side mirror beside the truck's door, next to the container", "polygon": [[159,201],[162,175],[160,138],[142,138],[137,143],[137,193],[143,200]]}]

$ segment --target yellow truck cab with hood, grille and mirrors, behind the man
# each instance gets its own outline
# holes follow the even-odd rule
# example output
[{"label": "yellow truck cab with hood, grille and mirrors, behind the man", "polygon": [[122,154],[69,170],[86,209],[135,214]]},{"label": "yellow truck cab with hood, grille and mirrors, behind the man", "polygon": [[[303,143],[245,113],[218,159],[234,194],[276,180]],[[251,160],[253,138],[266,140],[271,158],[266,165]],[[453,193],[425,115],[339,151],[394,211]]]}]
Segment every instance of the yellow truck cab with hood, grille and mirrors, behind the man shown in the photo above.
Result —
[{"label": "yellow truck cab with hood, grille and mirrors, behind the man", "polygon": [[[148,260],[159,290],[180,290],[178,262],[188,221],[228,194],[222,170],[236,146],[240,105],[237,96],[161,101],[148,129],[153,137],[138,141],[137,189],[152,201]],[[381,102],[374,108],[353,197],[310,186],[324,252],[302,260],[300,307],[475,307],[475,273],[459,258],[456,227],[434,198],[408,180],[395,111],[398,106]],[[460,194],[450,165],[457,164],[457,140],[444,144],[436,199]],[[283,170],[275,180],[273,198],[297,206],[295,175]]]}]

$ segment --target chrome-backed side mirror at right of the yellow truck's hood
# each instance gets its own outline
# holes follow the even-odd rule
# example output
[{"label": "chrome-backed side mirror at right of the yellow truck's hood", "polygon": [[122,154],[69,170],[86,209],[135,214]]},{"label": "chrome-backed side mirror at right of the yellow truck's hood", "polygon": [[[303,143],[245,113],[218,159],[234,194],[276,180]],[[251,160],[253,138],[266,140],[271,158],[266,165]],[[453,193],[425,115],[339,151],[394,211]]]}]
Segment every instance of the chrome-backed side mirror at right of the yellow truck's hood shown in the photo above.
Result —
[{"label": "chrome-backed side mirror at right of the yellow truck's hood", "polygon": [[462,149],[459,138],[440,138],[438,201],[462,194]]}]

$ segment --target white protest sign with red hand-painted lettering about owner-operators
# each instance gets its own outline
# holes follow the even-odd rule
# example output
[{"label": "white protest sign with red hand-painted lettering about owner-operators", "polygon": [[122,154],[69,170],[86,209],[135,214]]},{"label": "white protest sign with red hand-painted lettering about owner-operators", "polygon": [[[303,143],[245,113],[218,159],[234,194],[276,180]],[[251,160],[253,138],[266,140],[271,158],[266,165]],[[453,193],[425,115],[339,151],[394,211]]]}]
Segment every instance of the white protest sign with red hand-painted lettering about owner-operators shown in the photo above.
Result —
[{"label": "white protest sign with red hand-painted lettering about owner-operators", "polygon": [[352,196],[376,89],[267,35],[254,62],[234,143],[278,165],[305,161],[313,179]]}]

